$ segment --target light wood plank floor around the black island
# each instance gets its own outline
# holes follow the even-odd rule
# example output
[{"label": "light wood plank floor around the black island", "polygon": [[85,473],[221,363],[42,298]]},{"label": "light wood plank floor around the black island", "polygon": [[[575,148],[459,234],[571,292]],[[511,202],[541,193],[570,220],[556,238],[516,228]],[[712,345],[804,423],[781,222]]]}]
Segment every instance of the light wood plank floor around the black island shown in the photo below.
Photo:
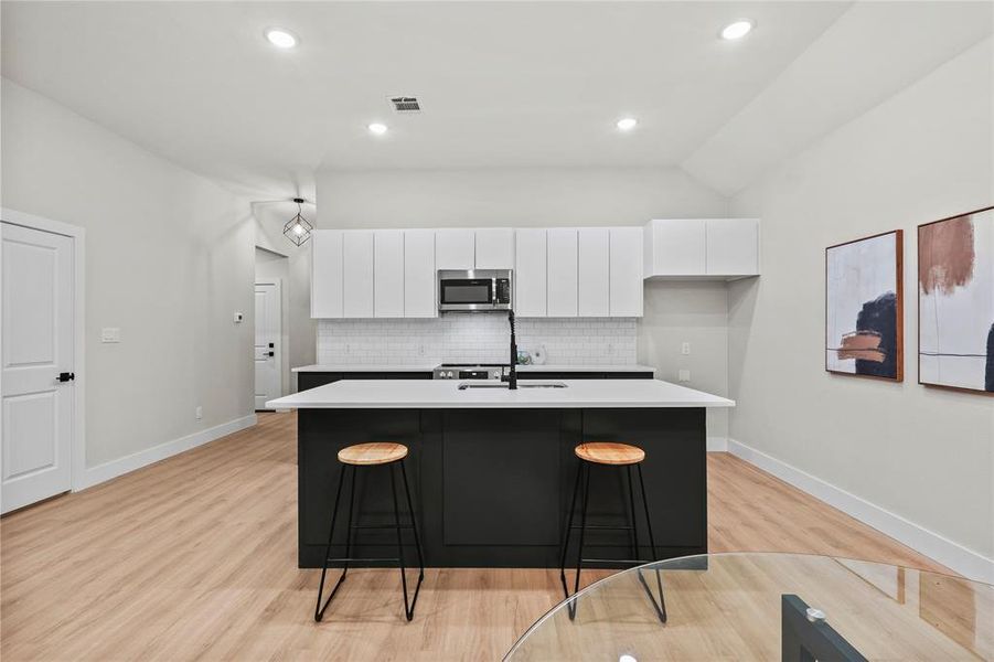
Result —
[{"label": "light wood plank floor around the black island", "polygon": [[[295,461],[296,416],[266,414],[3,517],[0,658],[498,660],[559,600],[554,570],[432,569],[408,623],[396,570],[353,570],[314,623],[320,573],[296,564]],[[944,570],[727,453],[712,453],[708,472],[713,552]]]}]

